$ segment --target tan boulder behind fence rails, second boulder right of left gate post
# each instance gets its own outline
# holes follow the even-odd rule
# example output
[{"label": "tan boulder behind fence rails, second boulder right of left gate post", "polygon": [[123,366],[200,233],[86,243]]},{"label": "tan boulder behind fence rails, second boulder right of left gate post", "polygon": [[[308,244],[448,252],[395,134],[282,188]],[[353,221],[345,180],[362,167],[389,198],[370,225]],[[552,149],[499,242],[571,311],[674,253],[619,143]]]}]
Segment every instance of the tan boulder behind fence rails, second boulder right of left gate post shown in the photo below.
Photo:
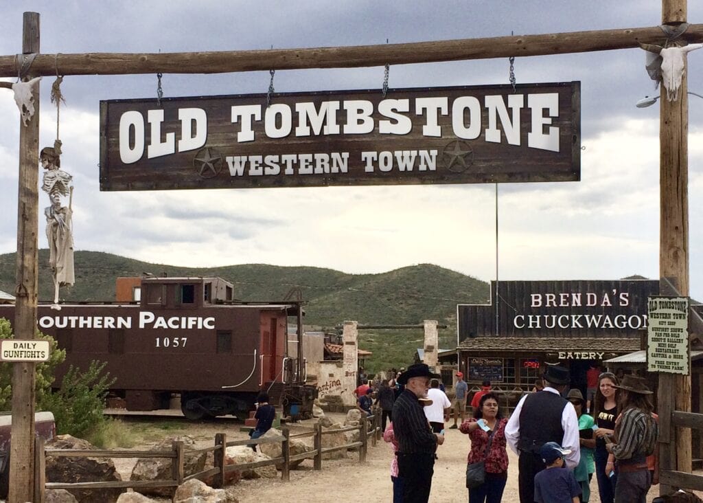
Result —
[{"label": "tan boulder behind fence rails, second boulder right of left gate post", "polygon": [[[195,439],[189,435],[176,438],[167,438],[153,447],[153,450],[167,451],[172,449],[174,441],[183,442],[183,475],[190,476],[205,469],[205,452],[188,454],[188,449],[195,450]],[[132,469],[129,480],[171,480],[172,461],[169,458],[140,458]],[[173,488],[135,488],[143,495],[172,497]]]}]

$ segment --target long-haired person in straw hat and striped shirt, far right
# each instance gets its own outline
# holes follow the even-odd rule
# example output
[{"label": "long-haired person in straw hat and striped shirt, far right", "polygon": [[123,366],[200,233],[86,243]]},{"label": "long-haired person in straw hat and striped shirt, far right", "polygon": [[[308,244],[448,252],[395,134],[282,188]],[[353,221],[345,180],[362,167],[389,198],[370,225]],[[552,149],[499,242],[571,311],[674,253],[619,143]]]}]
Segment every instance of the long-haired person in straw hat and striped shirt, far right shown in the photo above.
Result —
[{"label": "long-haired person in straw hat and striped shirt, far right", "polygon": [[652,392],[645,378],[626,375],[620,381],[620,410],[615,421],[614,437],[605,448],[616,459],[616,503],[645,503],[652,480],[647,456],[654,452],[659,426],[652,416]]}]

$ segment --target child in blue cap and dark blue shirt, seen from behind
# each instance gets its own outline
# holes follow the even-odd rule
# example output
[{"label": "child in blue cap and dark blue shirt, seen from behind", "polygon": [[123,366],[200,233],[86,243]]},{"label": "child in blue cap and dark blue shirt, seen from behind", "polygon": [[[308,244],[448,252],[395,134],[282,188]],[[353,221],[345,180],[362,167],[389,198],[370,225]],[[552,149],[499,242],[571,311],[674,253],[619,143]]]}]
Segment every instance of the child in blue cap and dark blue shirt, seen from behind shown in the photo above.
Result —
[{"label": "child in blue cap and dark blue shirt, seen from behind", "polygon": [[557,442],[547,442],[539,450],[546,469],[534,476],[534,500],[538,503],[579,503],[581,486],[574,472],[564,466],[564,456],[571,454]]}]

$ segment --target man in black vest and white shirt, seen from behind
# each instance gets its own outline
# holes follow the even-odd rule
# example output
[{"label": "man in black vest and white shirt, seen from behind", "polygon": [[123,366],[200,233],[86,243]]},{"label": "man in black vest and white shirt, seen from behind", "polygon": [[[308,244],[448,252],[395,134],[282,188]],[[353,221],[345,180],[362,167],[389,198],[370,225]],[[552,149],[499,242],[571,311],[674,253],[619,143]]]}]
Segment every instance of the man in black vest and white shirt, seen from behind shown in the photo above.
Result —
[{"label": "man in black vest and white shirt, seen from behind", "polygon": [[565,457],[568,469],[579,464],[579,419],[576,410],[561,396],[569,386],[569,371],[550,365],[544,373],[542,393],[522,397],[505,425],[505,440],[518,455],[520,503],[534,503],[534,476],[544,461],[539,450],[546,442],[557,442],[571,453]]}]

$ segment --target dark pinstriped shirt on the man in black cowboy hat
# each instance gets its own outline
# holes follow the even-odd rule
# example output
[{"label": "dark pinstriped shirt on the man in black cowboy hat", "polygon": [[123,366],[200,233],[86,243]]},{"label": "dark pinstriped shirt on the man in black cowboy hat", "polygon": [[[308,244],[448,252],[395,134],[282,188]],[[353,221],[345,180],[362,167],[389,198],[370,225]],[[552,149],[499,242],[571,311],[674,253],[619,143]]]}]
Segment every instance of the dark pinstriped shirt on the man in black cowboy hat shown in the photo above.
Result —
[{"label": "dark pinstriped shirt on the man in black cowboy hat", "polygon": [[434,454],[437,450],[437,435],[411,390],[403,390],[393,404],[393,431],[401,454]]}]

